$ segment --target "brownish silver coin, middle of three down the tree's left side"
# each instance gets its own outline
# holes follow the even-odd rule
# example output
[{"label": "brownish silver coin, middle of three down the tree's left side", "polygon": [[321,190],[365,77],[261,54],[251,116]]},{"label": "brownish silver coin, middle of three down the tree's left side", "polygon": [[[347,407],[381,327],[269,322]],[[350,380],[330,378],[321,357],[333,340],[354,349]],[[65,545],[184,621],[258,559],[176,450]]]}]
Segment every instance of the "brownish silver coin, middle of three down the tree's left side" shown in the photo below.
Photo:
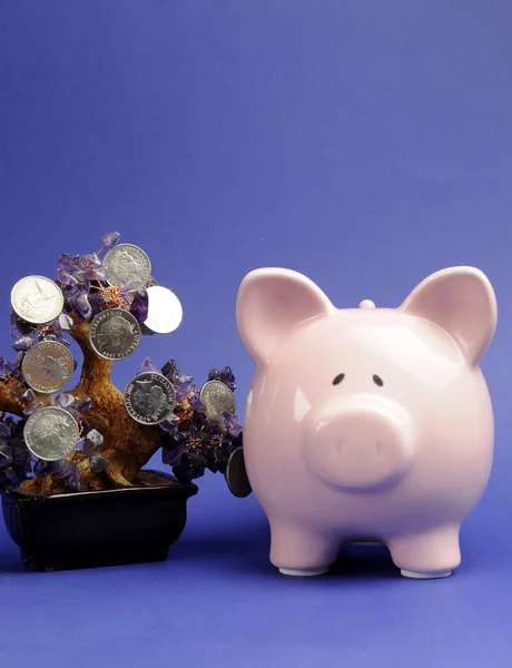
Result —
[{"label": "brownish silver coin, middle of three down the tree's left side", "polygon": [[56,341],[41,341],[31,347],[21,363],[21,373],[36,392],[57,392],[66,385],[73,372],[68,348]]}]

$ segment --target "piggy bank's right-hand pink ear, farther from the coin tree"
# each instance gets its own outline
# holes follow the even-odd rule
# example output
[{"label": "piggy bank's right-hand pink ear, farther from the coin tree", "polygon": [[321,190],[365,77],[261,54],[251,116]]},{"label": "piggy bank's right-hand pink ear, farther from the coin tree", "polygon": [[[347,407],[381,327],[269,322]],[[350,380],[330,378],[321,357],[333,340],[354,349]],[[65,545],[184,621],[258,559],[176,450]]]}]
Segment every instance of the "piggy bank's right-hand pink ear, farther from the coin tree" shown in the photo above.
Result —
[{"label": "piggy bank's right-hand pink ear, farther from the coin tree", "polygon": [[496,297],[485,274],[453,267],[420,283],[401,310],[431,321],[455,341],[470,364],[477,364],[496,328]]}]

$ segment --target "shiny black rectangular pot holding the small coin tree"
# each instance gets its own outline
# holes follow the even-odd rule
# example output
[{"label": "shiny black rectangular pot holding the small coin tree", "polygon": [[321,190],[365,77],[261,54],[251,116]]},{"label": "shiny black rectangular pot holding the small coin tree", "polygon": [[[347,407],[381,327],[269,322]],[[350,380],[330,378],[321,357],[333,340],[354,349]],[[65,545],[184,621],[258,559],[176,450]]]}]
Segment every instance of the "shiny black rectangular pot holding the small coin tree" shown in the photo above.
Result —
[{"label": "shiny black rectangular pot holding the small coin tree", "polygon": [[185,528],[194,483],[100,492],[2,494],[3,518],[24,562],[38,571],[163,561]]}]

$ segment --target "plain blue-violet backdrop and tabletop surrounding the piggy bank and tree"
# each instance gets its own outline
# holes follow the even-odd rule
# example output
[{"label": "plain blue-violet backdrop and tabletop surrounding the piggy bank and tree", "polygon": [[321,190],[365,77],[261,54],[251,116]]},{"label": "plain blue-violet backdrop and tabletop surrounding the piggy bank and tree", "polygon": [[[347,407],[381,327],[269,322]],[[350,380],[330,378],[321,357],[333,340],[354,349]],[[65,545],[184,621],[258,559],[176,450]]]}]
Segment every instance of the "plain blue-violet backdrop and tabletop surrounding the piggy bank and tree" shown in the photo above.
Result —
[{"label": "plain blue-violet backdrop and tabletop surrounding the piggy bank and tree", "polygon": [[175,356],[198,382],[230,364],[243,404],[235,298],[260,266],[397,306],[470,264],[500,306],[495,465],[454,577],[407,581],[362,550],[279,577],[254,495],[207,475],[165,563],[32,573],[2,525],[2,665],[510,665],[511,66],[506,0],[1,2],[2,354],[11,285],[111,229],[185,310],[116,364],[121,387]]}]

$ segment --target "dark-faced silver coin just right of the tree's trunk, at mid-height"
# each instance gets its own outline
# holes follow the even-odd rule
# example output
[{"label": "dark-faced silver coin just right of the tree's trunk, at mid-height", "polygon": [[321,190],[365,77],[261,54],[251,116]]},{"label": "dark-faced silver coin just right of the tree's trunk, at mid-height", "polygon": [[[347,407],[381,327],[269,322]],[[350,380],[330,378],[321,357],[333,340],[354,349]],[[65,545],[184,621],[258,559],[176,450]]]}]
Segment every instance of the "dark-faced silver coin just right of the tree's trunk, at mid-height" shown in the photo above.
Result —
[{"label": "dark-faced silver coin just right of the tree's trunk, at mid-height", "polygon": [[176,405],[173,383],[161,373],[139,373],[125,390],[128,414],[142,424],[159,424]]}]

